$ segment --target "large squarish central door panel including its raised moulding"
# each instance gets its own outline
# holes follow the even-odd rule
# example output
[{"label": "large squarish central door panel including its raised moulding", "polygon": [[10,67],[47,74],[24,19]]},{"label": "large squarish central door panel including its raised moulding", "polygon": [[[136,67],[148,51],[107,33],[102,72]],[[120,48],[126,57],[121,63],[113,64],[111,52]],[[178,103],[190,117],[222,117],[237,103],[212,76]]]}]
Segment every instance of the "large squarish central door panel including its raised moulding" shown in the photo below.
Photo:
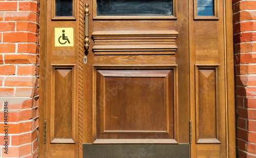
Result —
[{"label": "large squarish central door panel including its raised moulding", "polygon": [[174,66],[96,67],[94,143],[177,143]]}]

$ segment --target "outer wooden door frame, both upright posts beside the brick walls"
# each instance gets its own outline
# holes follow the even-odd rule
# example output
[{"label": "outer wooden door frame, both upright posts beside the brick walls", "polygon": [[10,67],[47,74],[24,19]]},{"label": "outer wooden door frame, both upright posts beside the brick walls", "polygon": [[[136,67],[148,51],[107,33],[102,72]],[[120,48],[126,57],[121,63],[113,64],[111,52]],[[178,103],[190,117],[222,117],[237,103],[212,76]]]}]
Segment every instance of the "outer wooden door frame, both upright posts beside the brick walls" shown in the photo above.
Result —
[{"label": "outer wooden door frame, both upright posts beside the brick walls", "polygon": [[[193,1],[193,0],[189,0]],[[236,156],[236,125],[234,119],[234,66],[233,66],[233,23],[232,23],[232,1],[224,1],[224,33],[225,33],[225,65],[226,65],[226,148],[227,157]],[[47,1],[40,2],[40,47],[39,47],[39,127],[38,127],[38,157],[45,156],[45,144],[44,144],[44,121],[45,121],[45,108],[46,108],[46,22],[47,18]]]}]

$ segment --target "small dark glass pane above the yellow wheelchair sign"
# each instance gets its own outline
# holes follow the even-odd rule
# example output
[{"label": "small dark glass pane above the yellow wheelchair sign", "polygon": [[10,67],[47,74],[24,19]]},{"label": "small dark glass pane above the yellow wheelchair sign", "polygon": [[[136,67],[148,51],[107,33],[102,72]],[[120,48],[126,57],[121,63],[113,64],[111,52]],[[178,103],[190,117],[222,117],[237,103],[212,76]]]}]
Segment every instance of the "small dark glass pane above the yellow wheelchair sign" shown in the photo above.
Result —
[{"label": "small dark glass pane above the yellow wheelchair sign", "polygon": [[73,16],[73,0],[55,0],[56,16]]}]

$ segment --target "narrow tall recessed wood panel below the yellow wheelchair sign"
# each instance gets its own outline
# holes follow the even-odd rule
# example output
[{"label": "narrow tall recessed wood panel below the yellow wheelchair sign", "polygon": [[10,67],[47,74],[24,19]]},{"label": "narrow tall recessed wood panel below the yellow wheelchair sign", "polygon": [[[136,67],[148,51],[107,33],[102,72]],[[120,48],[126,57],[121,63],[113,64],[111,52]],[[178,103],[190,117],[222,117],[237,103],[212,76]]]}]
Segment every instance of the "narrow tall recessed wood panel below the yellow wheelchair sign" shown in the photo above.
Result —
[{"label": "narrow tall recessed wood panel below the yellow wheelchair sign", "polygon": [[51,143],[74,143],[74,66],[53,66]]}]

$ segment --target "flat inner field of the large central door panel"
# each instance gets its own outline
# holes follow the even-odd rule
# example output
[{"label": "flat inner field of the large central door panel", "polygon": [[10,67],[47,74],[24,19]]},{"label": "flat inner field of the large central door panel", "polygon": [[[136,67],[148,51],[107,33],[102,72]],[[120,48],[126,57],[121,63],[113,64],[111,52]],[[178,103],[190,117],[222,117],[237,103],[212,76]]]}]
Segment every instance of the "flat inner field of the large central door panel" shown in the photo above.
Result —
[{"label": "flat inner field of the large central door panel", "polygon": [[104,77],[103,133],[166,132],[164,77]]}]

